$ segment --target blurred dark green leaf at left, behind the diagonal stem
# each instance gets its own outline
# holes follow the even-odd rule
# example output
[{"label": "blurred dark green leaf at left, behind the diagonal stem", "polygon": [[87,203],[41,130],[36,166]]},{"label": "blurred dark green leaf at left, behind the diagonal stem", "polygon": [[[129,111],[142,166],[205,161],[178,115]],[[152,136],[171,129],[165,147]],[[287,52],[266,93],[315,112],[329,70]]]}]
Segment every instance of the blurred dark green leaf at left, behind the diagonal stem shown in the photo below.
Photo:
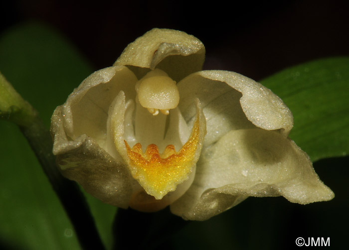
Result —
[{"label": "blurred dark green leaf at left, behind the diagonal stem", "polygon": [[[0,71],[48,127],[55,107],[93,70],[59,33],[29,23],[1,34]],[[0,152],[0,248],[79,249],[72,225],[25,138],[5,121],[0,121]],[[90,196],[87,200],[102,240],[111,246],[116,209]]]}]

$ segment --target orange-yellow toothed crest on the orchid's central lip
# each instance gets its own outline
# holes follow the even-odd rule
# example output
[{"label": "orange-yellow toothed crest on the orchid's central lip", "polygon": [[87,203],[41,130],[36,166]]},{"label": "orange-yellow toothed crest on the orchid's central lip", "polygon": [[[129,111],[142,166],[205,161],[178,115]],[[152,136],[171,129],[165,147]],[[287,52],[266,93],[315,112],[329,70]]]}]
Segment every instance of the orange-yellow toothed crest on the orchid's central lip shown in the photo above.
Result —
[{"label": "orange-yellow toothed crest on the orchid's central lip", "polygon": [[168,192],[188,179],[194,162],[199,139],[199,120],[194,122],[191,135],[182,148],[176,152],[174,145],[168,145],[162,154],[158,146],[150,144],[142,151],[141,143],[132,149],[124,140],[132,176],[139,181],[146,192],[156,199],[162,199]]}]

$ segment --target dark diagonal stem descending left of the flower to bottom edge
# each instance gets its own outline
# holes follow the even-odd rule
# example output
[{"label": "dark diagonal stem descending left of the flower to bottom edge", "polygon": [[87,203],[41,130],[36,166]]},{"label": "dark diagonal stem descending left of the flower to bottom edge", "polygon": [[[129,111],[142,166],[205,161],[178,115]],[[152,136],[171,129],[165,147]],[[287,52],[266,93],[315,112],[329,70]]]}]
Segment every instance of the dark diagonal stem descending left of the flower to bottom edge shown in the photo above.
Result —
[{"label": "dark diagonal stem descending left of the flower to bottom edge", "polygon": [[84,195],[78,185],[64,178],[56,167],[50,132],[37,115],[30,125],[19,127],[73,224],[82,249],[104,250]]}]

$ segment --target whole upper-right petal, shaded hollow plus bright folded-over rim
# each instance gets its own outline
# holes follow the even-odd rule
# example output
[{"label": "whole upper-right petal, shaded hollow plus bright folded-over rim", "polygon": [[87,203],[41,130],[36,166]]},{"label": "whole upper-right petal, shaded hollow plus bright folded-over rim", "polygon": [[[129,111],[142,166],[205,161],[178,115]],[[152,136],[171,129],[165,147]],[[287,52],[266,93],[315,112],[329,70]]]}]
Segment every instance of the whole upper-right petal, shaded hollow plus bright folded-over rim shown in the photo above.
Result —
[{"label": "whole upper-right petal, shaded hollow plus bright folded-over rim", "polygon": [[263,85],[240,74],[209,70],[189,75],[177,84],[179,109],[185,121],[194,116],[194,98],[207,119],[205,145],[232,129],[280,129],[286,136],[293,126],[291,111]]}]

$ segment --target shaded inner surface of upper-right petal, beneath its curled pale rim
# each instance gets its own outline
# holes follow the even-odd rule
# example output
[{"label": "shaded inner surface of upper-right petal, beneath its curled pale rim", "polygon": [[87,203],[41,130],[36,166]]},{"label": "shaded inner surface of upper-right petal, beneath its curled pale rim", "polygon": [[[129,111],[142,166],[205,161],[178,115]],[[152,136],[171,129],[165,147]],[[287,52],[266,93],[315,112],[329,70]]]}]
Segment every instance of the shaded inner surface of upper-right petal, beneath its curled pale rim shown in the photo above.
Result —
[{"label": "shaded inner surface of upper-right petal, beneath its curled pale rim", "polygon": [[204,146],[211,145],[230,130],[256,127],[242,111],[241,93],[229,85],[194,73],[180,81],[177,87],[178,107],[188,124],[194,120],[195,99],[200,100],[207,128]]}]

